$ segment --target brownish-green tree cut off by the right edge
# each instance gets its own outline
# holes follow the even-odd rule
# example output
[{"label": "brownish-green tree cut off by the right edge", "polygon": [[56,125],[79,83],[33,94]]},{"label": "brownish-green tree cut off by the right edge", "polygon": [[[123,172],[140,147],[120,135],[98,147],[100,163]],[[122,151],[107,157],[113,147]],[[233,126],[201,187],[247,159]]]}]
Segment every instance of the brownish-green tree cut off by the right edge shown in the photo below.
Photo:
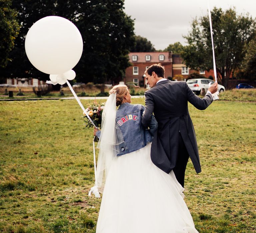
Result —
[{"label": "brownish-green tree cut off by the right edge", "polygon": [[242,62],[241,71],[243,76],[249,79],[256,77],[256,37],[254,37],[245,47],[245,57]]}]

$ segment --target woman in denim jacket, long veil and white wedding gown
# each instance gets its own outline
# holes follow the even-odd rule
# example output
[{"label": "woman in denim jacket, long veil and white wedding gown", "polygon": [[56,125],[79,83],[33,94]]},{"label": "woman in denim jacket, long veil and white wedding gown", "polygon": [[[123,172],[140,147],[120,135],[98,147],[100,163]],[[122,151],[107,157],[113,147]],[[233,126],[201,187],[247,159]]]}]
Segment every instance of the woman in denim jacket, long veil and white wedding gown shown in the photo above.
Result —
[{"label": "woman in denim jacket, long veil and white wedding gown", "polygon": [[149,129],[142,126],[145,108],[130,104],[125,85],[109,94],[102,130],[94,129],[100,149],[95,186],[104,188],[96,233],[198,233],[173,171],[165,173],[150,159],[155,118]]}]

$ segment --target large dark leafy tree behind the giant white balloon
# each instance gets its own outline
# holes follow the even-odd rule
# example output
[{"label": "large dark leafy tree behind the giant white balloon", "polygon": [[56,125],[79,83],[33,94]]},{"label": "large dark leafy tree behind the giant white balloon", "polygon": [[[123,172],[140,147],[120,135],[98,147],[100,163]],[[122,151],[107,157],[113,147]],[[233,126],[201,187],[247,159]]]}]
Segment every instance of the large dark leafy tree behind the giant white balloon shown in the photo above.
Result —
[{"label": "large dark leafy tree behind the giant white balloon", "polygon": [[49,78],[27,59],[25,36],[39,19],[58,15],[73,22],[83,38],[83,54],[74,68],[76,80],[100,83],[120,80],[125,69],[130,66],[128,53],[134,43],[134,22],[124,13],[123,5],[123,0],[14,0],[13,8],[19,12],[20,36],[11,52],[13,62],[1,70],[1,75]]}]

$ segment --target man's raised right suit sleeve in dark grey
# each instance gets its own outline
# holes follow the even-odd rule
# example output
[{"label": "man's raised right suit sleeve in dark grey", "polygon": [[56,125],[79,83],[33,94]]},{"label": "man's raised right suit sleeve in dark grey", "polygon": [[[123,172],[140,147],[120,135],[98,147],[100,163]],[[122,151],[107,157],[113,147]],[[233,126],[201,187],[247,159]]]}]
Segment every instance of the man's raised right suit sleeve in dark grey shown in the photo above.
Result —
[{"label": "man's raised right suit sleeve in dark grey", "polygon": [[210,93],[207,93],[204,98],[200,98],[195,93],[189,88],[187,83],[185,82],[186,85],[186,92],[187,92],[187,98],[188,102],[192,104],[194,107],[196,107],[199,110],[205,110],[212,102],[213,98]]}]

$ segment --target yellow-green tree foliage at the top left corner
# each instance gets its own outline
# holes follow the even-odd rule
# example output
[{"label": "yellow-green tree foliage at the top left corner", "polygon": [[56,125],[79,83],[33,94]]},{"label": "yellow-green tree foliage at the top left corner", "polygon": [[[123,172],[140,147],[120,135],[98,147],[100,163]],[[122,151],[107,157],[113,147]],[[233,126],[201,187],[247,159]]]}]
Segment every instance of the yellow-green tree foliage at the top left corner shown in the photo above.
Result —
[{"label": "yellow-green tree foliage at the top left corner", "polygon": [[5,68],[11,61],[9,53],[14,47],[19,34],[17,12],[11,9],[11,0],[0,1],[0,67]]}]

